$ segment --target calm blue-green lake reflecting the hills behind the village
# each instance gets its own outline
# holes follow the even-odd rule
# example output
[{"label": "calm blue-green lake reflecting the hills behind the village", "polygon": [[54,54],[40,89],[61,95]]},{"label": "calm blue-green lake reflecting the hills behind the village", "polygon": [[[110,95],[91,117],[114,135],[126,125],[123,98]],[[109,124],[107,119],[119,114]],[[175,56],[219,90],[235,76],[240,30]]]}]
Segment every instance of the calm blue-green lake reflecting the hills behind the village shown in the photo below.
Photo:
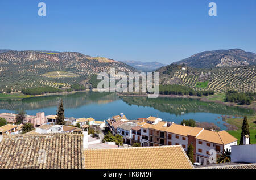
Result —
[{"label": "calm blue-green lake reflecting the hills behind the village", "polygon": [[56,114],[60,99],[63,99],[65,117],[92,117],[103,121],[124,113],[128,119],[151,116],[164,121],[180,123],[183,119],[195,119],[198,122],[213,122],[221,130],[226,130],[221,115],[253,115],[254,110],[229,107],[213,102],[203,102],[188,98],[156,98],[117,96],[115,93],[77,92],[69,95],[41,96],[22,100],[0,100],[0,113],[15,113],[18,109],[27,114]]}]

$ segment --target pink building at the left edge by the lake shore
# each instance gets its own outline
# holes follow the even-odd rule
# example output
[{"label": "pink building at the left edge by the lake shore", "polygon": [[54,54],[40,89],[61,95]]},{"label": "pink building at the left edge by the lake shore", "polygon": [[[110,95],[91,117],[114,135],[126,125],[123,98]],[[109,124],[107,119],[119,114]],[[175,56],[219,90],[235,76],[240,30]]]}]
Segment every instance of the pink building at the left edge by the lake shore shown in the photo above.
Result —
[{"label": "pink building at the left edge by the lake shore", "polygon": [[[17,114],[14,113],[1,113],[0,117],[5,118],[7,122],[9,123],[15,123],[15,118]],[[26,118],[23,123],[30,122],[34,127],[38,127],[43,125],[44,123],[47,122],[47,118],[44,115],[44,112],[41,113],[36,113],[35,115],[26,115]]]}]

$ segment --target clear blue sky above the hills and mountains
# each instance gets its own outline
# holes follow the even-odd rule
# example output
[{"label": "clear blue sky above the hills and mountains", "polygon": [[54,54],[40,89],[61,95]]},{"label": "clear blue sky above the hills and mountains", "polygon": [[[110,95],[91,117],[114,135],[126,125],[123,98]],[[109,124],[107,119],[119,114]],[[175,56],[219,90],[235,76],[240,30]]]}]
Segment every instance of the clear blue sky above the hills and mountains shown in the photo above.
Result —
[{"label": "clear blue sky above the hills and mountains", "polygon": [[[46,16],[38,16],[38,3]],[[209,16],[210,2],[217,16]],[[0,49],[170,64],[204,50],[256,53],[256,1],[0,1]]]}]

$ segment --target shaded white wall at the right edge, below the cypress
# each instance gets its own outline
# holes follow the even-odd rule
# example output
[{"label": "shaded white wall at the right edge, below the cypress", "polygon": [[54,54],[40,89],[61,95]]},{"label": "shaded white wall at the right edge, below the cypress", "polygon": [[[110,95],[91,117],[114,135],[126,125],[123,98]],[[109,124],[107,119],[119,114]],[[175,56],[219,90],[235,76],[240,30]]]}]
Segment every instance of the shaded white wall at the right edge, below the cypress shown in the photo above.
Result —
[{"label": "shaded white wall at the right edge, below the cypress", "polygon": [[256,144],[232,145],[231,162],[256,163]]}]

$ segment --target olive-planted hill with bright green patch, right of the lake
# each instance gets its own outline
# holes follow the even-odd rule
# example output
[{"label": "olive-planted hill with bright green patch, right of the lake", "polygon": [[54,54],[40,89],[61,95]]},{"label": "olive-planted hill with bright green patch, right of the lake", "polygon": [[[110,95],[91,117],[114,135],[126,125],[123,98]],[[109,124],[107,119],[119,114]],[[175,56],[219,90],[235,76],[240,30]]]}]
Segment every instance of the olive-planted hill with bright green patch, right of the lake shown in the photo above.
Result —
[{"label": "olive-planted hill with bright green patch, right of the lake", "polygon": [[156,70],[159,83],[180,84],[196,91],[256,92],[256,66],[193,68],[171,64]]}]

